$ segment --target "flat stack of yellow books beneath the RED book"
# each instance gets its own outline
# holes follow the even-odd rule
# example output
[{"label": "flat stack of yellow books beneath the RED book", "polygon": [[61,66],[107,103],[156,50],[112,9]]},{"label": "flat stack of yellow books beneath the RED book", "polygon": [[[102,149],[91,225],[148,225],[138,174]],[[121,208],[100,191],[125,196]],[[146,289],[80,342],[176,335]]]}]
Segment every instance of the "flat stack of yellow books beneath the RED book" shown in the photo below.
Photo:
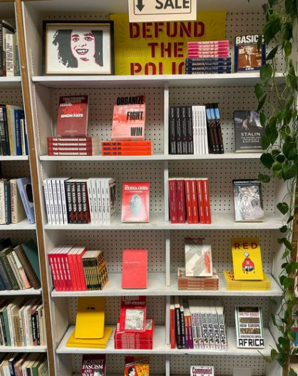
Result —
[{"label": "flat stack of yellow books beneath the RED book", "polygon": [[232,270],[224,270],[222,273],[227,291],[269,291],[271,289],[271,282],[265,273],[262,281],[235,281]]}]

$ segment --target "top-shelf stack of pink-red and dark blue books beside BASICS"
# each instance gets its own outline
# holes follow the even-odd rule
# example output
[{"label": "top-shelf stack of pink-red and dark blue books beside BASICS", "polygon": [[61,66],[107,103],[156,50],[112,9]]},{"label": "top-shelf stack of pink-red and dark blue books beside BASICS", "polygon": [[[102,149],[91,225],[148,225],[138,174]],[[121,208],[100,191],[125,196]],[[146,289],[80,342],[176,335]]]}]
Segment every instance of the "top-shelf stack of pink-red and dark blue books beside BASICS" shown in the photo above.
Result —
[{"label": "top-shelf stack of pink-red and dark blue books beside BASICS", "polygon": [[229,41],[192,41],[187,43],[185,74],[231,73]]}]

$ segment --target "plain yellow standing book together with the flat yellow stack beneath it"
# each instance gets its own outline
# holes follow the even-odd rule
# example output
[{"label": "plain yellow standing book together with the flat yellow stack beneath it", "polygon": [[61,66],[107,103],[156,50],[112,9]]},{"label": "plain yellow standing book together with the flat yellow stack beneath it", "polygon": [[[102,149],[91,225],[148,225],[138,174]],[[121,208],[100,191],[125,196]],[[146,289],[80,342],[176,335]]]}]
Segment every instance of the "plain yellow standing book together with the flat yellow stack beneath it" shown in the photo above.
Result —
[{"label": "plain yellow standing book together with the flat yellow stack beneath it", "polygon": [[105,349],[113,332],[105,325],[106,298],[78,297],[76,326],[66,347]]}]

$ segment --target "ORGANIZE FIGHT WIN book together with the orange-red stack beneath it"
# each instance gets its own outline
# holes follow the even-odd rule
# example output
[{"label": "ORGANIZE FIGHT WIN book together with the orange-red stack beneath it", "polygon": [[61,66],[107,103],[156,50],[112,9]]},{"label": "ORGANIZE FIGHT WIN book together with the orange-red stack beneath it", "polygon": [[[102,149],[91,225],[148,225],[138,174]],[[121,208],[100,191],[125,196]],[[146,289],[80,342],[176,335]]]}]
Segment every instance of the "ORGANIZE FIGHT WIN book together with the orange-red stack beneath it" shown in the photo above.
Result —
[{"label": "ORGANIZE FIGHT WIN book together with the orange-red stack beneath it", "polygon": [[145,118],[145,95],[118,97],[113,112],[112,141],[101,143],[101,154],[152,155],[152,143],[145,141]]}]

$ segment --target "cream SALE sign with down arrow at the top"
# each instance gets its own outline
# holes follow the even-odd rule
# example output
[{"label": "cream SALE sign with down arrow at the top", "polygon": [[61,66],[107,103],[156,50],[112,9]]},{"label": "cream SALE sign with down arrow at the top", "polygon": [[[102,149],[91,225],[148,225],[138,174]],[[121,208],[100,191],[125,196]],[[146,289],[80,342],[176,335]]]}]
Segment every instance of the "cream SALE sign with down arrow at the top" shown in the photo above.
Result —
[{"label": "cream SALE sign with down arrow at the top", "polygon": [[130,22],[195,21],[197,0],[128,0]]}]

